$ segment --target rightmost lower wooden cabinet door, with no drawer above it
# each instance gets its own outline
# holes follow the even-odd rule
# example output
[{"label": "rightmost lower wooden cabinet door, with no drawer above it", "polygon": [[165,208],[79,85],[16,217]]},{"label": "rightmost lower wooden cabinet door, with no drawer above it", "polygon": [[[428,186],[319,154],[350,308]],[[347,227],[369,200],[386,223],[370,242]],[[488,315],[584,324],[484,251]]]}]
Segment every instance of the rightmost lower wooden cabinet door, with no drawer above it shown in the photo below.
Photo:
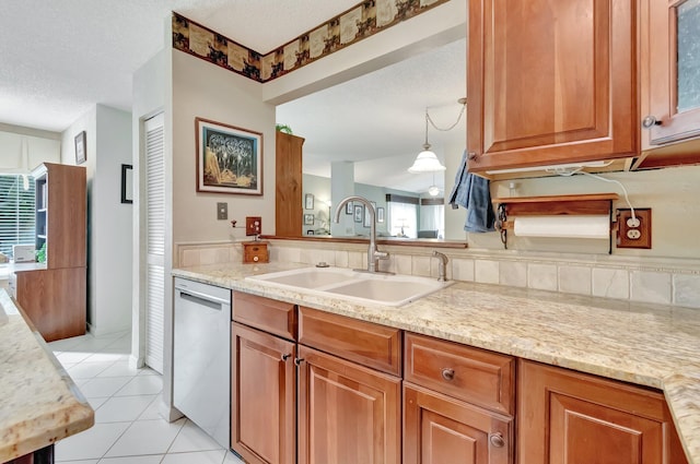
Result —
[{"label": "rightmost lower wooden cabinet door, with no drawer above it", "polygon": [[664,396],[535,362],[518,362],[522,464],[687,463]]}]

